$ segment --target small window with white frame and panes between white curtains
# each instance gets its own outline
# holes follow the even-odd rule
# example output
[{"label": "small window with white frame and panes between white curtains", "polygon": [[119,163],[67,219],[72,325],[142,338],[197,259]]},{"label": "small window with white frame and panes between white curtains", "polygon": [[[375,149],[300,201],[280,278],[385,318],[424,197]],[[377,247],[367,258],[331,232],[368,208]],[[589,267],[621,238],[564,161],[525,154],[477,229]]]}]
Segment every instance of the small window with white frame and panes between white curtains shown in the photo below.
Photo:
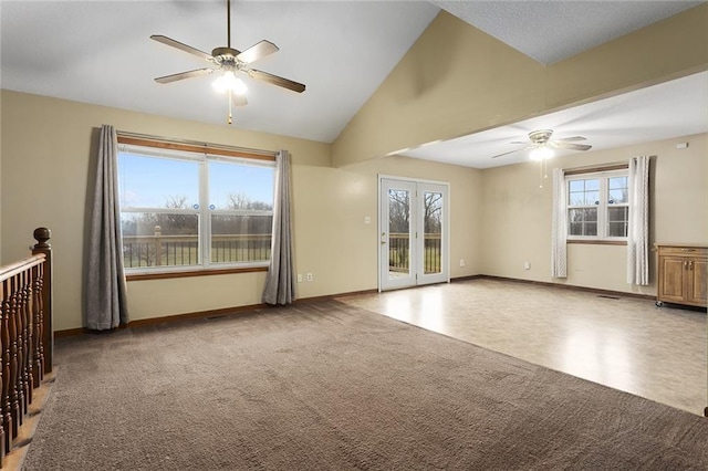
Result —
[{"label": "small window with white frame and panes between white curtains", "polygon": [[626,240],[627,170],[573,175],[566,185],[569,240]]}]

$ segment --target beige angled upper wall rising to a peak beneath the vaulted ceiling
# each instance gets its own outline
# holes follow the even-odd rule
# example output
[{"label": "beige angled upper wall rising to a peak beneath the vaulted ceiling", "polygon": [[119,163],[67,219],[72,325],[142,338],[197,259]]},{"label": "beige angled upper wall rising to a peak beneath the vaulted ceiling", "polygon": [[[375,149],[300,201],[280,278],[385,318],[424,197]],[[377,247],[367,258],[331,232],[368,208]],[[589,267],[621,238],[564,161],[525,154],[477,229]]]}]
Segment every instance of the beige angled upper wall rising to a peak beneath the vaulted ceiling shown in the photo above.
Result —
[{"label": "beige angled upper wall rising to a peak beneath the vaulted ceiling", "polygon": [[544,107],[544,66],[441,11],[333,145],[333,164],[520,121]]}]

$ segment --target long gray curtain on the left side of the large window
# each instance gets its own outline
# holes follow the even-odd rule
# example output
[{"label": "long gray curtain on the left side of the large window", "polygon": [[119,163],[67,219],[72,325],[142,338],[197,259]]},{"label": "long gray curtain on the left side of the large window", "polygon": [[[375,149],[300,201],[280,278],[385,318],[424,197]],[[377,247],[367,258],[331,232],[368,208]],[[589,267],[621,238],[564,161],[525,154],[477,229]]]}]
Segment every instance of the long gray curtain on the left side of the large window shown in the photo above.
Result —
[{"label": "long gray curtain on the left side of the large window", "polygon": [[118,144],[113,126],[101,127],[97,159],[86,266],[86,326],[105,331],[128,322],[118,207]]}]

